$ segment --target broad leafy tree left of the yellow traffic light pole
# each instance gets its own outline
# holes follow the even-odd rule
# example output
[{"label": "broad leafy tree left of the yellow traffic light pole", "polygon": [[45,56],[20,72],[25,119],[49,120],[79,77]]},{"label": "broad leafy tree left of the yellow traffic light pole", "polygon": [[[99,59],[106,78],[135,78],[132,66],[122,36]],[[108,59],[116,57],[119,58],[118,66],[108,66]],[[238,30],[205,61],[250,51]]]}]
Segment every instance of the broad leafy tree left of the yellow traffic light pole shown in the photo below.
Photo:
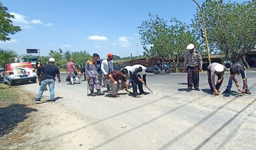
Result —
[{"label": "broad leafy tree left of the yellow traffic light pole", "polygon": [[[161,56],[165,60],[173,60],[176,65],[174,68],[177,68],[179,59],[184,57],[189,43],[193,43],[197,50],[202,50],[197,42],[199,38],[192,34],[188,24],[172,18],[168,25],[166,20],[157,15],[149,14],[149,17],[149,20],[143,21],[138,27],[145,50],[144,56],[148,58]],[[147,46],[150,46],[150,49]]]}]

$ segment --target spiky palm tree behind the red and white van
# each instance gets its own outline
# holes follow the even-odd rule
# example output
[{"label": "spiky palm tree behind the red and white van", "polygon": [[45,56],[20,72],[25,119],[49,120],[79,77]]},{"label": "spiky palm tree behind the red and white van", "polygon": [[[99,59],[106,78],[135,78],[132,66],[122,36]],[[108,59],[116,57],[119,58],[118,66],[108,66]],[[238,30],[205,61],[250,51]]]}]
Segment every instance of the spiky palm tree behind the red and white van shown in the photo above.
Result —
[{"label": "spiky palm tree behind the red and white van", "polygon": [[0,48],[0,65],[14,62],[17,53],[14,50]]}]

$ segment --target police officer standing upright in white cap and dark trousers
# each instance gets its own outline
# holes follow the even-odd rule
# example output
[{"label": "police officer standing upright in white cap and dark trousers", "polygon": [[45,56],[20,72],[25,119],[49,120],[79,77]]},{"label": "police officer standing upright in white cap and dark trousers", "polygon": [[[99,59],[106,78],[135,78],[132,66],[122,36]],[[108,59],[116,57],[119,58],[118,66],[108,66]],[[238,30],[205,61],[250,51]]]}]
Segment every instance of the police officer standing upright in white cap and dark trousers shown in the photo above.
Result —
[{"label": "police officer standing upright in white cap and dark trousers", "polygon": [[192,91],[192,86],[196,91],[200,91],[199,86],[199,71],[202,72],[202,56],[199,51],[194,50],[194,45],[189,44],[187,46],[188,52],[185,53],[184,58],[184,71],[188,73],[188,90]]}]

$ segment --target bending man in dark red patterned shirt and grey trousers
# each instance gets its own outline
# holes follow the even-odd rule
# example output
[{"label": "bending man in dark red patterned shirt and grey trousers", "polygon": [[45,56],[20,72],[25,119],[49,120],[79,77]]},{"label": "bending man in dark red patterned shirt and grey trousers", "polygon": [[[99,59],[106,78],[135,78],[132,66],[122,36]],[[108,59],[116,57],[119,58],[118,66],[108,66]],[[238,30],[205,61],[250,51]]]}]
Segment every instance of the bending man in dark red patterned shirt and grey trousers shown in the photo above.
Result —
[{"label": "bending man in dark red patterned shirt and grey trousers", "polygon": [[[125,77],[128,74],[127,69],[122,69],[120,72],[119,70],[111,71],[109,74],[106,74],[106,84],[108,84],[112,89],[112,97],[120,97],[117,94],[118,90],[121,88],[121,83],[119,80],[123,80],[126,82]],[[128,91],[128,89],[126,89]]]}]

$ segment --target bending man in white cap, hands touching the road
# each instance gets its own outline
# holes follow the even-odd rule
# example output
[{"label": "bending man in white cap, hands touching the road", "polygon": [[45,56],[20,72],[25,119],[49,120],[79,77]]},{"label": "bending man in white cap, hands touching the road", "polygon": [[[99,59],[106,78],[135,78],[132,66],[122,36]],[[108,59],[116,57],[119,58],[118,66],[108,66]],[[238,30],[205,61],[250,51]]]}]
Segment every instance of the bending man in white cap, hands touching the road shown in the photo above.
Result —
[{"label": "bending man in white cap, hands touching the road", "polygon": [[[208,83],[210,85],[210,92],[214,92],[215,95],[219,95],[219,89],[221,88],[221,84],[223,81],[223,75],[224,75],[224,66],[214,62],[208,66],[207,74],[208,74]],[[218,76],[217,84],[215,85],[215,74]]]}]

